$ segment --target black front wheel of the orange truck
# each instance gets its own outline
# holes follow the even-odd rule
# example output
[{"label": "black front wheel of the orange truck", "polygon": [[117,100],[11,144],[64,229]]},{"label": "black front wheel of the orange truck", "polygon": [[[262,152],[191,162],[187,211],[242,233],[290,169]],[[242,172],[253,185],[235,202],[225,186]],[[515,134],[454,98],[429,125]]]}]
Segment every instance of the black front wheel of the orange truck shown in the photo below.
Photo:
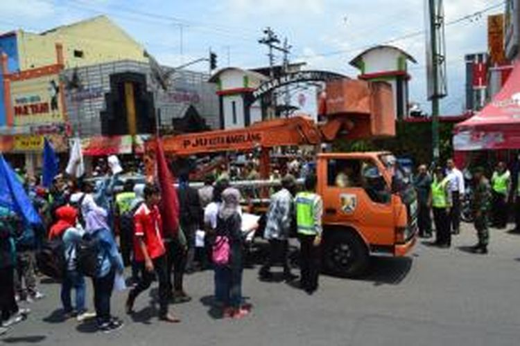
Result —
[{"label": "black front wheel of the orange truck", "polygon": [[332,233],[325,240],[324,269],[339,277],[356,277],[368,266],[368,252],[357,235],[349,231]]}]

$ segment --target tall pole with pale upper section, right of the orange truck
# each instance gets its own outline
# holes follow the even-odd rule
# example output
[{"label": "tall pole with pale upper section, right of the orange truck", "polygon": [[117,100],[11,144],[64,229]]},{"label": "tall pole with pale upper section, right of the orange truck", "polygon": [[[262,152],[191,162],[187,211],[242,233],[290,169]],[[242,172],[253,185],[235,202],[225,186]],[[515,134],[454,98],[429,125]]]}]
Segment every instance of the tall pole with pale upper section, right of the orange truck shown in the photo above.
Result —
[{"label": "tall pole with pale upper section, right of the orange truck", "polygon": [[429,13],[429,45],[430,54],[426,54],[431,71],[428,75],[428,98],[431,100],[431,137],[433,149],[433,162],[438,164],[440,158],[439,139],[439,112],[440,99],[447,95],[446,92],[446,57],[444,44],[444,8],[442,0],[428,1]]}]

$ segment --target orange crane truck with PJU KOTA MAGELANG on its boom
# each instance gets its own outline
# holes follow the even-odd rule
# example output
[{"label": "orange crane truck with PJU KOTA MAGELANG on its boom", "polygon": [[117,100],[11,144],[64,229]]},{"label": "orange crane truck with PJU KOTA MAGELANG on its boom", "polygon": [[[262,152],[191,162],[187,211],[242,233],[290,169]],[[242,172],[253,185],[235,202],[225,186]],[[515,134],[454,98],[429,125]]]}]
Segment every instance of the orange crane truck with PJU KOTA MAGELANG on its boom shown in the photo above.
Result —
[{"label": "orange crane truck with PJU KOTA MAGELANG on its boom", "polygon": [[[392,90],[384,82],[327,82],[322,122],[309,117],[265,120],[243,129],[163,138],[174,156],[260,150],[260,174],[268,179],[270,153],[284,146],[395,136]],[[316,155],[318,194],[324,201],[324,270],[354,277],[370,255],[405,256],[416,241],[417,200],[411,182],[389,152]]]}]

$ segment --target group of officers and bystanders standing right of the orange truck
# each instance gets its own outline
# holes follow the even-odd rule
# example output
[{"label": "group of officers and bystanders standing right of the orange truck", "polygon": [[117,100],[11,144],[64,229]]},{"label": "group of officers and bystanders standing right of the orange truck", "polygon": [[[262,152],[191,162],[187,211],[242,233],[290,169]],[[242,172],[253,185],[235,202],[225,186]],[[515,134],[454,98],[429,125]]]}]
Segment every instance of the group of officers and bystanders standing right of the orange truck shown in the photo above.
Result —
[{"label": "group of officers and bystanders standing right of the orange truck", "polygon": [[[519,157],[520,160],[520,157]],[[475,167],[463,174],[449,159],[446,167],[434,167],[428,172],[426,165],[419,165],[413,183],[417,191],[419,236],[432,237],[432,218],[435,225],[435,245],[451,246],[452,235],[460,233],[462,202],[474,220],[478,242],[471,247],[474,253],[487,254],[489,226],[506,228],[509,219],[509,203],[514,203],[516,227],[520,231],[520,181],[514,179],[504,162],[499,162],[490,179],[483,167]]]}]

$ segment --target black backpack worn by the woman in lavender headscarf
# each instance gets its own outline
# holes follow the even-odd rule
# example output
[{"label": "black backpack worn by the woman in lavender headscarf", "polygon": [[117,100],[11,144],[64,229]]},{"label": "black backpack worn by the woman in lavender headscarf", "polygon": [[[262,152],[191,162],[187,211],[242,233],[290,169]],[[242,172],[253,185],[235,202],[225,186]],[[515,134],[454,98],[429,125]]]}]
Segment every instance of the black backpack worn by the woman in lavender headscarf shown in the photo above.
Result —
[{"label": "black backpack worn by the woman in lavender headscarf", "polygon": [[101,242],[96,237],[96,232],[92,235],[85,234],[76,244],[76,270],[78,273],[88,277],[96,277],[103,263],[103,261],[99,261],[100,251]]}]

